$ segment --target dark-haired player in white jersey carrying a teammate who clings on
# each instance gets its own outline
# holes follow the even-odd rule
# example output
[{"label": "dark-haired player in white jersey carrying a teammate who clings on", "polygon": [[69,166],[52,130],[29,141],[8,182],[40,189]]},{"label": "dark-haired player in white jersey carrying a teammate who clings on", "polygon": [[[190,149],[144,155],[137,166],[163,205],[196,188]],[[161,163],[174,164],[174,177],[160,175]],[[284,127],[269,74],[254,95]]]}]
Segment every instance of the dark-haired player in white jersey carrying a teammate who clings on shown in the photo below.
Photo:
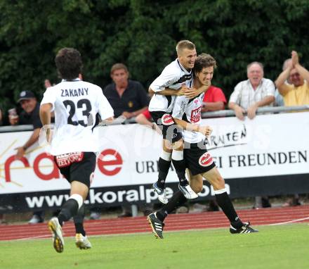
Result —
[{"label": "dark-haired player in white jersey carrying a teammate who clings on", "polygon": [[[193,69],[193,87],[198,89],[202,85],[210,85],[214,68],[216,68],[216,60],[212,56],[209,54],[199,55]],[[203,189],[203,177],[211,183],[218,205],[230,220],[230,232],[232,234],[257,232],[249,226],[249,223],[242,223],[239,219],[226,192],[225,181],[206,150],[205,136],[211,134],[212,130],[209,126],[200,125],[203,99],[204,93],[192,99],[177,96],[172,113],[175,123],[183,127],[184,130],[184,158],[185,165],[190,173],[190,185],[194,192],[199,193]],[[159,211],[148,215],[147,220],[155,237],[163,239],[164,219],[185,201],[187,199],[183,193],[178,191]]]}]

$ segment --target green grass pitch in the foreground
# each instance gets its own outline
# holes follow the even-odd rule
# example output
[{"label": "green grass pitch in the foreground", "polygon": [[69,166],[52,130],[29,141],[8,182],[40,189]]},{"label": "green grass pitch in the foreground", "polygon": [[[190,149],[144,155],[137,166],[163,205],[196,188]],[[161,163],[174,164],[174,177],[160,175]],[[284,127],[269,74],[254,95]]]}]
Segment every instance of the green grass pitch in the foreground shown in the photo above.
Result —
[{"label": "green grass pitch in the foreground", "polygon": [[93,248],[79,250],[65,238],[58,254],[51,239],[0,242],[1,269],[308,269],[309,225],[260,226],[255,234],[228,229],[90,237]]}]

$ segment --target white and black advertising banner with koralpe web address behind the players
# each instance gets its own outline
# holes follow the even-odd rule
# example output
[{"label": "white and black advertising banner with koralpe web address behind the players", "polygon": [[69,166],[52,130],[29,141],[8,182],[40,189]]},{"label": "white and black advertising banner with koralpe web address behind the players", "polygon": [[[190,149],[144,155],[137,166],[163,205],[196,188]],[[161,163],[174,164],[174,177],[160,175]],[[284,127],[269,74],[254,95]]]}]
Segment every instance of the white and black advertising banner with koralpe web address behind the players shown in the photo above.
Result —
[{"label": "white and black advertising banner with koralpe web address behind the players", "polygon": [[[225,178],[230,195],[292,194],[309,192],[309,112],[258,115],[246,118],[210,118],[213,128],[208,149]],[[89,204],[152,203],[156,194],[157,159],[162,138],[142,125],[96,128],[100,137],[95,177]],[[15,160],[15,147],[31,132],[0,133],[0,201],[13,210],[60,206],[69,189],[53,163],[38,145]],[[171,170],[169,194],[178,179]],[[205,186],[200,199],[211,196]],[[1,209],[1,208],[0,208]]]}]

